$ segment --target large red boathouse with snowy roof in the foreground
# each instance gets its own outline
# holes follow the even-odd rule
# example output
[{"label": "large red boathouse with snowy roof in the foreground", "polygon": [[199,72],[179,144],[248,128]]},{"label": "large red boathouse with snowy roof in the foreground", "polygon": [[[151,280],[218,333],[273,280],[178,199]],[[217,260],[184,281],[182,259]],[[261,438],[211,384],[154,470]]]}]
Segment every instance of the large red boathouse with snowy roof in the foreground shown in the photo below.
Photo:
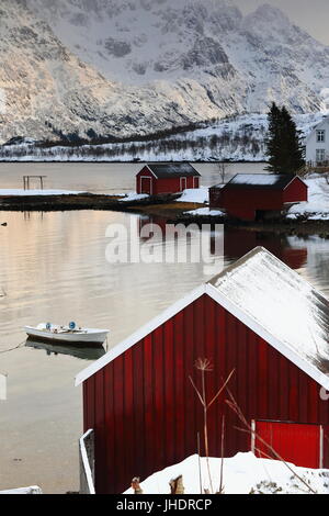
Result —
[{"label": "large red boathouse with snowy roof in the foreground", "polygon": [[[208,412],[209,453],[265,451],[297,465],[329,468],[329,302],[297,272],[258,247],[175,302],[76,379],[84,431],[94,433],[95,492],[121,493],[197,450],[198,358],[209,395],[229,390],[256,434],[240,431],[227,392]],[[325,391],[322,391],[324,394]],[[259,450],[259,451],[258,451]],[[204,450],[202,450],[204,453]],[[266,450],[266,455],[271,451]]]}]

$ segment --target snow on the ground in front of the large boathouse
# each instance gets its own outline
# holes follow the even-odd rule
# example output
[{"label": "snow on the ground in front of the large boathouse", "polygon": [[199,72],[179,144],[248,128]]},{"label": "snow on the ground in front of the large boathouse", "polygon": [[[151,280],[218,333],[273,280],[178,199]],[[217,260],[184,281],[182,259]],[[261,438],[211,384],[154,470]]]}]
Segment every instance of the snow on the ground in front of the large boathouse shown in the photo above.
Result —
[{"label": "snow on the ground in front of the large boathouse", "polygon": [[[220,481],[222,459],[211,458],[211,475],[214,490],[217,491]],[[314,491],[329,494],[329,470],[311,470],[290,464]],[[194,455],[179,464],[166,468],[154,473],[141,482],[144,494],[168,494],[169,482],[183,475],[185,494],[200,494],[198,456]],[[203,489],[209,487],[206,459],[201,458],[201,476]],[[249,493],[310,493],[310,490],[284,464],[284,462],[270,459],[258,459],[250,451],[237,453],[230,459],[224,459],[224,492],[225,494]],[[132,494],[128,489],[124,494]]]}]

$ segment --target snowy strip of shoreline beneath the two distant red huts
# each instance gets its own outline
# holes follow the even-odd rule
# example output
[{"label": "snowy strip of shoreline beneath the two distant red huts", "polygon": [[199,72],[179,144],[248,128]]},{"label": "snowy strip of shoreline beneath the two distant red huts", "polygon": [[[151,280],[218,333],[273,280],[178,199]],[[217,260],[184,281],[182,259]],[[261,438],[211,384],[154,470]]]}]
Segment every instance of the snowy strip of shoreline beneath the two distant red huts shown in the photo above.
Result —
[{"label": "snowy strip of shoreline beneath the two distant red huts", "polygon": [[[305,182],[308,186],[307,202],[294,204],[276,222],[269,221],[258,225],[249,223],[249,226],[260,226],[271,231],[275,223],[282,232],[288,232],[295,227],[296,229],[305,228],[315,233],[324,229],[327,233],[327,225],[329,225],[329,183],[326,177],[319,175],[306,178]],[[22,198],[22,201],[20,198]],[[173,203],[177,207],[171,210],[169,217],[173,218],[177,223],[212,223],[217,221],[230,223],[220,209],[211,209],[208,206],[207,187],[186,189],[179,198],[177,195],[169,195],[166,199],[150,198],[147,194],[137,194],[136,192],[110,194],[70,190],[0,189],[0,209],[3,211],[20,211],[23,207],[25,210],[48,211],[81,209],[126,211],[128,207],[136,206],[136,210],[140,213],[144,213],[144,209],[147,209],[150,215],[159,215],[161,210],[166,210],[168,203]],[[240,225],[246,224],[243,222],[240,223]],[[317,224],[322,224],[322,229],[319,229]]]}]

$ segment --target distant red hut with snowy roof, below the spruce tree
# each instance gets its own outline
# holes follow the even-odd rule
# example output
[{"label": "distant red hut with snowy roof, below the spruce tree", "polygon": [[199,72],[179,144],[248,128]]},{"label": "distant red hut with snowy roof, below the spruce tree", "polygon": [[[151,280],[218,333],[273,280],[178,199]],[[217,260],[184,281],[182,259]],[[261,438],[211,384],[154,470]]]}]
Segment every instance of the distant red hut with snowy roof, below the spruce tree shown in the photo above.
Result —
[{"label": "distant red hut with snowy roof, below the spruce tree", "polygon": [[237,173],[209,189],[211,207],[243,221],[273,217],[292,204],[307,201],[307,184],[293,175]]}]

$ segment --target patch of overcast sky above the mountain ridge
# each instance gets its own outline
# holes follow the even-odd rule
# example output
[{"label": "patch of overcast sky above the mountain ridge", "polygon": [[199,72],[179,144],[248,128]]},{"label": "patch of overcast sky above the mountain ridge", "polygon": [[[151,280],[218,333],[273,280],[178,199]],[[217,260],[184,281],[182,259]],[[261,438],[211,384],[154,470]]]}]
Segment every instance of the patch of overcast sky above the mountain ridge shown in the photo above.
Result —
[{"label": "patch of overcast sky above the mountain ridge", "polygon": [[236,0],[241,11],[250,12],[262,3],[282,9],[291,20],[329,45],[329,0]]}]

